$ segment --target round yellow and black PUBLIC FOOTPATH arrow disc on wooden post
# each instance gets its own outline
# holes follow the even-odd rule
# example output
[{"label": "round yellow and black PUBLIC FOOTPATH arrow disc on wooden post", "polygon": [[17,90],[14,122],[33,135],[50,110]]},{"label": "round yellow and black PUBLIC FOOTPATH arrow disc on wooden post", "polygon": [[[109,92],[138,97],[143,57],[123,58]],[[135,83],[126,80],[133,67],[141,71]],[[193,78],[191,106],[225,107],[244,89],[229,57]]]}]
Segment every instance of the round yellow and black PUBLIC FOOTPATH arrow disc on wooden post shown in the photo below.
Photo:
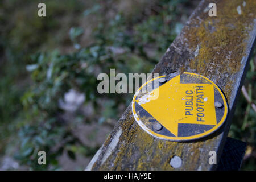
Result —
[{"label": "round yellow and black PUBLIC FOOTPATH arrow disc on wooden post", "polygon": [[214,82],[185,72],[147,81],[134,94],[132,110],[148,134],[180,142],[216,131],[225,122],[228,104]]}]

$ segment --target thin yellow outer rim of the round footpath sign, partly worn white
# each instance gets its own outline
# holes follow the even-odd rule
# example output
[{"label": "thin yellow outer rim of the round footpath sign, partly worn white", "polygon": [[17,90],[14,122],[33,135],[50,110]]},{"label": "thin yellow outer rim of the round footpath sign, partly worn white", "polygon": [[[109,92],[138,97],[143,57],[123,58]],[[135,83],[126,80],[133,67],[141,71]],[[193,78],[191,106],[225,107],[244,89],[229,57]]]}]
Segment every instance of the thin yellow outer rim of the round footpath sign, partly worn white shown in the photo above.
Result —
[{"label": "thin yellow outer rim of the round footpath sign, partly worn white", "polygon": [[189,140],[193,140],[193,139],[199,139],[199,138],[203,138],[203,137],[213,133],[214,131],[216,131],[225,122],[226,115],[228,114],[228,104],[226,102],[226,98],[225,98],[224,94],[221,92],[221,89],[218,88],[218,86],[216,84],[214,84],[213,81],[209,80],[207,77],[201,76],[201,75],[196,74],[196,73],[188,73],[188,72],[184,72],[182,74],[190,74],[190,75],[200,76],[200,77],[204,78],[205,80],[208,80],[209,82],[211,82],[217,88],[217,90],[221,94],[222,100],[224,102],[224,109],[225,110],[224,110],[223,117],[221,118],[221,121],[218,122],[218,124],[216,126],[214,126],[212,129],[210,129],[210,130],[208,130],[208,131],[206,131],[204,133],[193,135],[193,136],[189,136],[189,137],[170,137],[170,136],[166,136],[166,135],[161,135],[161,134],[155,133],[154,131],[148,129],[148,127],[146,125],[144,125],[144,123],[139,119],[138,115],[136,114],[136,111],[135,111],[135,98],[137,97],[137,95],[139,93],[139,90],[141,90],[143,88],[143,86],[147,85],[151,81],[154,81],[155,79],[165,77],[165,76],[159,76],[159,77],[156,77],[156,78],[154,78],[152,80],[147,81],[146,83],[144,83],[137,90],[137,92],[135,92],[134,97],[133,97],[133,101],[132,101],[132,105],[131,105],[131,109],[133,111],[133,116],[134,116],[135,120],[137,121],[137,123],[139,124],[139,126],[141,126],[142,129],[144,129],[148,134],[152,135],[153,137],[156,137],[156,138],[159,138],[159,139],[163,139],[163,140],[174,141],[174,142],[182,142],[182,141],[189,141]]}]

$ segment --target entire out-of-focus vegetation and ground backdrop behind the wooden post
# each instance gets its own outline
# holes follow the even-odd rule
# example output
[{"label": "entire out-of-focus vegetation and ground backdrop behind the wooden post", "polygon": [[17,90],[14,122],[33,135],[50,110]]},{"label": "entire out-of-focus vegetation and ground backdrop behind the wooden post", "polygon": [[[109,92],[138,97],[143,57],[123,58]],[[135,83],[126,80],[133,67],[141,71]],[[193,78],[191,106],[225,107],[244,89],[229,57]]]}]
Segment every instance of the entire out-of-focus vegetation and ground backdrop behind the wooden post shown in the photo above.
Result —
[{"label": "entire out-of-focus vegetation and ground backdrop behind the wooden post", "polygon": [[[199,1],[46,0],[46,18],[40,2],[0,3],[0,169],[84,169],[132,97],[98,94],[98,73],[150,73]],[[248,144],[242,169],[256,169],[255,118],[241,94],[229,137]]]}]

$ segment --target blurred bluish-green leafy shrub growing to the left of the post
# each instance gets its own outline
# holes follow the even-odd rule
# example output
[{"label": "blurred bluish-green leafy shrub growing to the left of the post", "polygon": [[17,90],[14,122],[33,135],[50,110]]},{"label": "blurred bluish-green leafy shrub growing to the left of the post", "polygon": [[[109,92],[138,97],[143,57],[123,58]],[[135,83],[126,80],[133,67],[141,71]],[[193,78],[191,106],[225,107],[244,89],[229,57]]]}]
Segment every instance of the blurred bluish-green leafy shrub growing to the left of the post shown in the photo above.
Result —
[{"label": "blurred bluish-green leafy shrub growing to the left of the post", "polygon": [[[95,13],[96,9],[100,7],[93,6],[91,10],[86,10],[84,15]],[[44,150],[51,162],[44,168],[55,169],[56,159],[64,150],[68,151],[71,159],[76,158],[74,147],[77,145],[85,148],[83,152],[86,154],[94,154],[94,149],[88,149],[89,147],[74,137],[69,123],[61,121],[63,110],[59,108],[58,103],[68,90],[76,89],[85,93],[85,102],[93,103],[96,114],[101,116],[98,118],[100,123],[109,118],[118,119],[118,106],[127,105],[130,96],[98,94],[97,75],[109,75],[110,68],[123,73],[149,73],[158,62],[158,55],[163,54],[174,40],[177,32],[172,31],[173,27],[180,26],[180,23],[167,23],[162,28],[163,14],[171,14],[171,11],[161,12],[141,23],[135,23],[130,32],[127,31],[129,27],[125,16],[118,13],[108,23],[98,24],[94,30],[94,43],[84,48],[80,48],[78,40],[84,30],[72,27],[69,37],[77,51],[67,55],[52,51],[31,56],[30,64],[26,68],[31,73],[32,84],[21,98],[23,118],[19,123],[18,133],[21,144],[19,151],[15,153],[16,159],[32,169],[42,169],[42,166],[36,164],[36,152]],[[170,32],[171,36],[167,36]],[[150,44],[155,50],[155,53],[151,53],[153,56],[148,56],[144,49]],[[103,100],[106,100],[105,104],[102,103]],[[70,148],[71,142],[73,147]],[[61,146],[52,151],[59,143]]]}]

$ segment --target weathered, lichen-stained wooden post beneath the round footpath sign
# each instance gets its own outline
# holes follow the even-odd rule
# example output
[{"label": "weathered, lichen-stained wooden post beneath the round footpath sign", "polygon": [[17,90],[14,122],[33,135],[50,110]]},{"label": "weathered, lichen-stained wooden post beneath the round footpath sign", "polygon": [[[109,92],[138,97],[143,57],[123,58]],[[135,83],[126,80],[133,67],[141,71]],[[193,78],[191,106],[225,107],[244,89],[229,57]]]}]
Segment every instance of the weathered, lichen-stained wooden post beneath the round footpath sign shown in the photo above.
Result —
[{"label": "weathered, lichen-stained wooden post beneath the round footpath sign", "polygon": [[[217,17],[208,16],[211,2],[217,5]],[[255,40],[255,10],[255,0],[201,1],[152,71],[199,73],[215,82],[229,104],[228,120],[221,129],[193,142],[160,140],[139,127],[130,104],[86,170],[172,170],[174,155],[182,159],[179,170],[216,169],[208,163],[208,154],[216,151],[218,158],[222,154]]]}]

